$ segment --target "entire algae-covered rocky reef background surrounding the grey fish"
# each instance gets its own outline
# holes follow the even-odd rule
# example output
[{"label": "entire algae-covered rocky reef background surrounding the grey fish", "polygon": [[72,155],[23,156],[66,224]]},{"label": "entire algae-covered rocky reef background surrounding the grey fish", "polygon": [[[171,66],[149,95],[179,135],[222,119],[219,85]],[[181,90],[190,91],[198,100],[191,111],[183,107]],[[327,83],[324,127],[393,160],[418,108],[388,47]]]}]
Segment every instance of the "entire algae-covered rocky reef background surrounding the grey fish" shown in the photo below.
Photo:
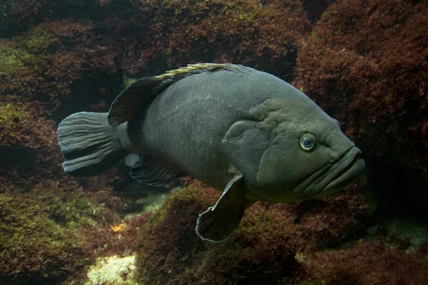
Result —
[{"label": "entire algae-covered rocky reef background surrounding the grey fish", "polygon": [[[0,284],[428,284],[427,1],[0,8]],[[124,165],[66,177],[63,118],[106,112],[135,78],[204,61],[292,81],[362,148],[367,180],[322,199],[254,204],[212,244],[195,222],[220,192],[198,181],[169,195]],[[103,266],[118,268],[114,281]]]}]

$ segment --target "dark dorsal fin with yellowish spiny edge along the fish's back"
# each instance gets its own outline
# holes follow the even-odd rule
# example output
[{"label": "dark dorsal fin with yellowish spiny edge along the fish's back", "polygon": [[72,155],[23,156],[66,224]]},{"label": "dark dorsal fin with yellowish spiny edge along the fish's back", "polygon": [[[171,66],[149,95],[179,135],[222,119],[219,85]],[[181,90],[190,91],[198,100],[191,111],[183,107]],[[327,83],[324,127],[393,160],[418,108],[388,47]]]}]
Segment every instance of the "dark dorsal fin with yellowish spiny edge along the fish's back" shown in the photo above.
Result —
[{"label": "dark dorsal fin with yellowish spiny edge along the fish's back", "polygon": [[136,112],[147,108],[151,101],[173,83],[188,76],[215,71],[252,72],[253,68],[233,63],[196,63],[167,71],[160,76],[144,77],[128,86],[111,104],[108,123],[120,125],[136,117]]}]

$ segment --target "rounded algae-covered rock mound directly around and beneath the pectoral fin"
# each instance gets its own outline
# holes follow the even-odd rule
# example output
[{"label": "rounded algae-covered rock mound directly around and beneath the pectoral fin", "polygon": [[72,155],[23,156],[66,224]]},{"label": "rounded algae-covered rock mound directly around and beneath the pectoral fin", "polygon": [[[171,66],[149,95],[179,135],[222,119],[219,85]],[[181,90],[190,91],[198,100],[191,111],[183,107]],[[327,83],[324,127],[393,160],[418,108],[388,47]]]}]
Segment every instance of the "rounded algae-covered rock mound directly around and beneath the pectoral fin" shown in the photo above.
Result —
[{"label": "rounded algae-covered rock mound directly around and beneath the pectoral fin", "polygon": [[[281,276],[280,268],[291,270],[294,246],[284,246],[289,238],[282,231],[283,226],[262,209],[250,210],[243,224],[223,243],[204,242],[195,234],[198,214],[220,195],[203,188],[190,185],[174,192],[141,229],[136,281],[204,284],[201,280],[206,280],[210,284],[228,284],[230,279],[225,276],[236,276],[236,284],[269,283],[277,279],[285,280],[286,284],[290,277],[287,273]],[[175,283],[177,280],[180,282]]]}]

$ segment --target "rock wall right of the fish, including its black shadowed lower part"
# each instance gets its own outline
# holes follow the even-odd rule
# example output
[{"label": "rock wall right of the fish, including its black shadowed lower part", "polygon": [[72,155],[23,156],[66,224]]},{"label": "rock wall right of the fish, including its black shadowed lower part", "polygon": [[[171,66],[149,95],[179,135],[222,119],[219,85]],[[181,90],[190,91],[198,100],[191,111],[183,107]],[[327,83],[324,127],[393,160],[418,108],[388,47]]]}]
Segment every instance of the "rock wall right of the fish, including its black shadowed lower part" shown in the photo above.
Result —
[{"label": "rock wall right of the fish, including its black shadowed lower part", "polygon": [[365,152],[384,214],[428,214],[427,12],[427,1],[337,2],[297,56],[295,85]]}]

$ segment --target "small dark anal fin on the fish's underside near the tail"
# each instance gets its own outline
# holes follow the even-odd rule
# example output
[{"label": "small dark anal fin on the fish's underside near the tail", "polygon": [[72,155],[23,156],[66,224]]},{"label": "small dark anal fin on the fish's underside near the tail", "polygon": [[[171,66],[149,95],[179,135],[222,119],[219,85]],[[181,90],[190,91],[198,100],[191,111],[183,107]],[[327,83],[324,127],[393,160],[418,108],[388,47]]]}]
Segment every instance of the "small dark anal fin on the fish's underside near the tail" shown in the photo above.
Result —
[{"label": "small dark anal fin on the fish's underside near the tail", "polygon": [[143,155],[140,162],[131,167],[133,179],[153,186],[163,186],[184,175],[184,172],[151,155]]}]

